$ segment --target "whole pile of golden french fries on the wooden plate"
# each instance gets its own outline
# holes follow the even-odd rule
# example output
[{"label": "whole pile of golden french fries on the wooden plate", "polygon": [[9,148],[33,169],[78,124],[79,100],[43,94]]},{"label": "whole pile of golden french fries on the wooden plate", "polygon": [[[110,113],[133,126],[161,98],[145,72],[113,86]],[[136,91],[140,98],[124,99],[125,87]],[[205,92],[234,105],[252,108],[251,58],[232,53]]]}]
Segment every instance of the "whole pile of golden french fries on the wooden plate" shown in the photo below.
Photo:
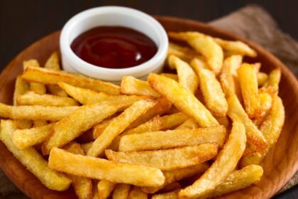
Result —
[{"label": "whole pile of golden french fries on the wooden plate", "polygon": [[243,63],[255,50],[168,33],[167,67],[121,86],[23,63],[0,139],[46,187],[78,198],[213,198],[260,181],[285,120],[281,72]]}]

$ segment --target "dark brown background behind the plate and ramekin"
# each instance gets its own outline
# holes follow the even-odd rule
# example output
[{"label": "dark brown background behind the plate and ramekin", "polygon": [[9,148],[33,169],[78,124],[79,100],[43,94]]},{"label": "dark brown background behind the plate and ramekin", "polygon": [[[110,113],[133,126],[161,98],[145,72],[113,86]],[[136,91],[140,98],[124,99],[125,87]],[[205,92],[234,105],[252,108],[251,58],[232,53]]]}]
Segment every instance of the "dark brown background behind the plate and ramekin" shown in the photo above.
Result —
[{"label": "dark brown background behind the plate and ramekin", "polygon": [[[62,28],[79,11],[94,6],[128,6],[148,14],[211,21],[248,4],[263,6],[285,33],[298,40],[298,1],[169,0],[169,1],[40,1],[0,0],[0,71],[28,45]],[[298,198],[298,188],[275,198]]]}]

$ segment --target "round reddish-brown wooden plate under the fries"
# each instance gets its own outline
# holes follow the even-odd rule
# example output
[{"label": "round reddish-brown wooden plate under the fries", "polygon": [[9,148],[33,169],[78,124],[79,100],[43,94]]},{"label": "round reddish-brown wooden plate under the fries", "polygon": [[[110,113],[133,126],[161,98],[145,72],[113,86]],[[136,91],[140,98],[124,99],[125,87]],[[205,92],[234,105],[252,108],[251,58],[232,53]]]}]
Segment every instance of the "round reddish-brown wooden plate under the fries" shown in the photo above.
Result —
[{"label": "round reddish-brown wooden plate under the fries", "polygon": [[[272,195],[282,188],[294,175],[298,168],[298,82],[291,72],[259,45],[246,41],[243,38],[226,33],[218,28],[208,26],[197,21],[182,18],[156,17],[167,31],[201,31],[211,36],[230,40],[240,40],[248,43],[258,52],[258,58],[252,61],[262,63],[262,70],[269,72],[274,68],[282,69],[282,80],[280,83],[280,97],[285,105],[285,127],[275,147],[270,150],[263,161],[265,170],[262,180],[257,185],[239,190],[222,198],[271,198]],[[43,65],[45,59],[54,50],[59,50],[60,32],[37,41],[26,50],[23,50],[0,75],[0,102],[11,104],[13,87],[16,76],[22,72],[22,62],[26,59],[35,58]],[[15,44],[17,45],[17,44]],[[56,192],[45,188],[33,174],[24,168],[16,158],[6,149],[0,141],[0,167],[11,181],[31,198],[76,198],[70,188],[65,192]]]}]

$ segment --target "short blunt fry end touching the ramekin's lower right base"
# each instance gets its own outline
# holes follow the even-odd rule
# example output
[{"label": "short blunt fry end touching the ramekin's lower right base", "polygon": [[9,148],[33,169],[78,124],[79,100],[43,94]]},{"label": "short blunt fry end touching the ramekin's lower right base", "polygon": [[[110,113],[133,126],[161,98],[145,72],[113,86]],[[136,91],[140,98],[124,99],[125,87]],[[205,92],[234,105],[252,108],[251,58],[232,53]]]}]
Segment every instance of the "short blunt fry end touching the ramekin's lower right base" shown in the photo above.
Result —
[{"label": "short blunt fry end touching the ramekin's lower right base", "polygon": [[158,93],[155,92],[150,85],[148,85],[148,82],[138,80],[132,76],[122,77],[121,92],[126,95],[147,95],[160,97],[160,95],[158,95]]}]

